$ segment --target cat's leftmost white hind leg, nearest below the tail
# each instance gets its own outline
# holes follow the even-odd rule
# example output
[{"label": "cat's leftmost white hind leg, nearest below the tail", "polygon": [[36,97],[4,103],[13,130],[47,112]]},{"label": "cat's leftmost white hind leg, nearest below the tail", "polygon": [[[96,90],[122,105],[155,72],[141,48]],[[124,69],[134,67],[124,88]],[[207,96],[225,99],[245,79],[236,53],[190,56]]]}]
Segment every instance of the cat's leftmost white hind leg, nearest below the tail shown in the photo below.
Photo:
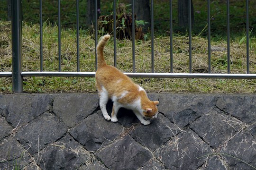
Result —
[{"label": "cat's leftmost white hind leg, nearest below the tail", "polygon": [[106,120],[110,120],[111,117],[107,112],[106,106],[107,102],[109,101],[109,96],[107,90],[103,87],[101,92],[99,93],[100,97],[100,107],[101,107],[101,112]]}]

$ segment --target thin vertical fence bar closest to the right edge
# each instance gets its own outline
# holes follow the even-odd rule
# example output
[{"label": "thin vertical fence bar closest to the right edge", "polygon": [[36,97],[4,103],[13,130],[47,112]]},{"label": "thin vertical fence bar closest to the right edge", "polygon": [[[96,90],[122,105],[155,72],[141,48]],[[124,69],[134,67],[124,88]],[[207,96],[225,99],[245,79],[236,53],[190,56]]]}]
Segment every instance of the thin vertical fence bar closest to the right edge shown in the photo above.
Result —
[{"label": "thin vertical fence bar closest to the right edge", "polygon": [[250,73],[250,56],[249,56],[249,0],[246,0],[246,56],[247,69],[246,73]]}]

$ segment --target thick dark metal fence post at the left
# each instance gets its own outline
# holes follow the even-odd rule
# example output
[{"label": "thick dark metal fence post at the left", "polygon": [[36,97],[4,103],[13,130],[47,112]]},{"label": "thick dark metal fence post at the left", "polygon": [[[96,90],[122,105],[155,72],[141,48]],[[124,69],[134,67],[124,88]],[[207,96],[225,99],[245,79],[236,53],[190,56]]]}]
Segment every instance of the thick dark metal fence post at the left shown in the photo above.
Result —
[{"label": "thick dark metal fence post at the left", "polygon": [[11,0],[12,91],[23,92],[21,0]]}]

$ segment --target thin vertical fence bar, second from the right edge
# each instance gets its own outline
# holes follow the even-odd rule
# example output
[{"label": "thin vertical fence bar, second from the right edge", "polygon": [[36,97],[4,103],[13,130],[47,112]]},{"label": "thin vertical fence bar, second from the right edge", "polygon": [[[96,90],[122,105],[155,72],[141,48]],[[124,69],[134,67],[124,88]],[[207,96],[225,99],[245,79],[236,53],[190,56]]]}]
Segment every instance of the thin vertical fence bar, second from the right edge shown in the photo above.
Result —
[{"label": "thin vertical fence bar, second from the right edge", "polygon": [[227,0],[227,55],[228,55],[228,74],[230,73],[230,30],[229,30],[229,0]]}]

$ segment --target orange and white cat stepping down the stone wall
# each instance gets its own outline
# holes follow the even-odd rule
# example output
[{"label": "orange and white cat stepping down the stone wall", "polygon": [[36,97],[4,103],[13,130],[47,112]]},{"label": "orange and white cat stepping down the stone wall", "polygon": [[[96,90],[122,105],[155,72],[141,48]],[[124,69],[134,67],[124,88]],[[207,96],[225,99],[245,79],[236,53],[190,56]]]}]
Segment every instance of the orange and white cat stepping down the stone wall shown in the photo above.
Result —
[{"label": "orange and white cat stepping down the stone wall", "polygon": [[[106,120],[117,122],[118,110],[121,107],[126,108],[133,110],[143,125],[149,125],[150,120],[145,120],[144,117],[150,119],[156,118],[158,113],[157,105],[159,102],[150,101],[141,86],[135,84],[117,68],[107,65],[103,56],[103,49],[109,39],[109,34],[104,35],[96,47],[98,68],[95,79],[100,98],[101,112]],[[109,99],[113,102],[111,117],[106,110]]]}]

